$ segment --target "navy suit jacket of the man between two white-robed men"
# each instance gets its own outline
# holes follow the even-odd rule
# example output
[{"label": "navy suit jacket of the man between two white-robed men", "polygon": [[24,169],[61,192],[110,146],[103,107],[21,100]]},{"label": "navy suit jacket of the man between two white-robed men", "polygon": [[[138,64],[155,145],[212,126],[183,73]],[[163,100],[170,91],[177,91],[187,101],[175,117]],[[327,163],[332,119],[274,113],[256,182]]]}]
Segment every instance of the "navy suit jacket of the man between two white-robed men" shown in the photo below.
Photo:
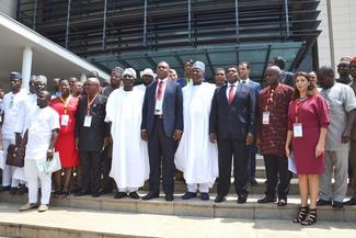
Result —
[{"label": "navy suit jacket of the man between two white-robed men", "polygon": [[[154,126],[156,89],[157,81],[146,88],[142,106],[141,129],[152,135]],[[183,132],[183,94],[179,83],[168,80],[163,98],[163,126],[168,137],[173,137],[175,129]]]}]

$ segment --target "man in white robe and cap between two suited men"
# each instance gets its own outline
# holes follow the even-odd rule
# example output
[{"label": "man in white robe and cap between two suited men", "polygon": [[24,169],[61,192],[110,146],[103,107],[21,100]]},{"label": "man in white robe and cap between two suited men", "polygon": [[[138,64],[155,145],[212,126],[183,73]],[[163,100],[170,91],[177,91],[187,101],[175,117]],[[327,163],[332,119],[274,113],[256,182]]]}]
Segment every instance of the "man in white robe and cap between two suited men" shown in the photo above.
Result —
[{"label": "man in white robe and cap between two suited men", "polygon": [[175,166],[183,171],[187,192],[183,200],[200,192],[202,200],[209,200],[218,172],[218,148],[209,140],[209,114],[215,84],[203,82],[205,65],[193,65],[193,84],[183,88],[184,133],[175,152]]}]

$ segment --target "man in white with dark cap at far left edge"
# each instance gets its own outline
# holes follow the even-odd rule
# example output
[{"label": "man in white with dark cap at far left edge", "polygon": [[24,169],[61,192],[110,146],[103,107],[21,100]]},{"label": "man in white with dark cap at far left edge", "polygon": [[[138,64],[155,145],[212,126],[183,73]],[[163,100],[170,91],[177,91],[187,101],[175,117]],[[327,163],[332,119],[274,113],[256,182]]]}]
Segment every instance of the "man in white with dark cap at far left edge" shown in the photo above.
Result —
[{"label": "man in white with dark cap at far left edge", "polygon": [[[3,97],[3,124],[2,124],[2,144],[3,157],[7,158],[10,145],[20,146],[22,141],[22,132],[25,125],[25,101],[26,92],[21,91],[22,76],[20,72],[10,73],[11,92]],[[2,171],[2,190],[10,190],[11,194],[18,192],[20,183],[15,179],[14,172],[16,167],[3,165]],[[18,168],[19,169],[19,168]],[[11,188],[10,188],[11,186]]]}]

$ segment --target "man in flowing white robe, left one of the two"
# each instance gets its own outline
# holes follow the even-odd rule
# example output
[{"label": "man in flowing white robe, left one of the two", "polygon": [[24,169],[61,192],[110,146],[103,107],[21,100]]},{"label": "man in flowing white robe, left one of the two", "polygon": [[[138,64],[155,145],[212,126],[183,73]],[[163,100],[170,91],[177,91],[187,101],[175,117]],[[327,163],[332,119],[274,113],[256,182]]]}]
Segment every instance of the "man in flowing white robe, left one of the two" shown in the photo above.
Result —
[{"label": "man in flowing white robe, left one of the two", "polygon": [[149,177],[147,143],[140,137],[145,92],[134,89],[136,71],[125,69],[124,87],[114,90],[106,103],[106,122],[111,123],[113,160],[110,177],[118,188],[115,199],[139,199],[137,191]]}]

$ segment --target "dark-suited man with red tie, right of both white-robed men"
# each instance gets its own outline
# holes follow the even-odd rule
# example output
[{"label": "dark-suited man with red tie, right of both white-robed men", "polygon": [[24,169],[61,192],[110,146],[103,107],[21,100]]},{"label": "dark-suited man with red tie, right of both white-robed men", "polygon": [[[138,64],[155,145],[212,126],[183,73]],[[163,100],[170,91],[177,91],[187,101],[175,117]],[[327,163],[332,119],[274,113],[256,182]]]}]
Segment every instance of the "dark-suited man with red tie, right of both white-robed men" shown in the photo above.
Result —
[{"label": "dark-suited man with red tie, right of both white-robed men", "polygon": [[219,151],[217,203],[229,193],[232,156],[238,203],[245,203],[249,195],[249,146],[255,133],[255,95],[238,82],[238,68],[229,67],[228,83],[215,91],[211,103],[210,140],[218,143]]}]

